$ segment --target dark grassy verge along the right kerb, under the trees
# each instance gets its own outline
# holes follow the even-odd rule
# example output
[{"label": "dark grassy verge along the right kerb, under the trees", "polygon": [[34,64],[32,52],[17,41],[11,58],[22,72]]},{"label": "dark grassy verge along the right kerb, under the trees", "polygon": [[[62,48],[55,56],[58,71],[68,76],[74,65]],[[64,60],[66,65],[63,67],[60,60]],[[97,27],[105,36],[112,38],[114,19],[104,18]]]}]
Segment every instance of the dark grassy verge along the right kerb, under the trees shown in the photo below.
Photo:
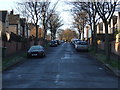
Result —
[{"label": "dark grassy verge along the right kerb, under the trees", "polygon": [[120,56],[111,53],[110,62],[105,60],[105,51],[98,50],[96,54],[90,52],[90,56],[103,63],[110,69],[116,76],[120,77]]}]

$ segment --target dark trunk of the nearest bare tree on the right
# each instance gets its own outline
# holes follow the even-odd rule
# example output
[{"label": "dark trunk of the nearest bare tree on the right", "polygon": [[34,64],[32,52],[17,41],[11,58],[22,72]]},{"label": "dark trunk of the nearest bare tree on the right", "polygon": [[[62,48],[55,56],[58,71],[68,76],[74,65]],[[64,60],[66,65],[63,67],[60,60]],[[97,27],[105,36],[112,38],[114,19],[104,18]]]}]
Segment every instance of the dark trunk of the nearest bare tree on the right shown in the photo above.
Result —
[{"label": "dark trunk of the nearest bare tree on the right", "polygon": [[109,43],[109,35],[108,35],[108,22],[104,20],[105,25],[105,53],[106,53],[106,60],[110,60],[110,43]]}]

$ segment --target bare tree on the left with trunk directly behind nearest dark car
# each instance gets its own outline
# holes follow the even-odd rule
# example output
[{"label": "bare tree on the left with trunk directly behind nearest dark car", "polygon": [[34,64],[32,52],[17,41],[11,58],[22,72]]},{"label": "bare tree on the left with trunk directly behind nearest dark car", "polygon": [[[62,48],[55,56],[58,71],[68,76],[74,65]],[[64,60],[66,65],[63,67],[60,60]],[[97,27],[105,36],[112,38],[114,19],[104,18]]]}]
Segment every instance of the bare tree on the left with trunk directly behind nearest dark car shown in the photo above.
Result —
[{"label": "bare tree on the left with trunk directly behind nearest dark car", "polygon": [[21,14],[25,16],[25,18],[27,17],[27,19],[30,20],[36,27],[35,44],[38,44],[38,26],[39,21],[42,19],[42,7],[44,6],[44,3],[47,3],[47,5],[49,5],[48,2],[37,2],[36,0],[17,3],[19,7],[22,7]]}]

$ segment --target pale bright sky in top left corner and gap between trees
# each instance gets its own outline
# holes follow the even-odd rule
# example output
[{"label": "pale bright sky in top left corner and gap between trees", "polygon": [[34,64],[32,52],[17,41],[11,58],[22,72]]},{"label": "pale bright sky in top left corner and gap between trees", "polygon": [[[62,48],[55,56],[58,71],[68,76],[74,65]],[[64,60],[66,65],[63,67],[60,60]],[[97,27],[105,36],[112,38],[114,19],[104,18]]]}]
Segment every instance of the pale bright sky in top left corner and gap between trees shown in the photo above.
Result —
[{"label": "pale bright sky in top left corner and gap between trees", "polygon": [[[11,11],[12,9],[15,9],[15,2],[19,2],[20,0],[0,0],[0,10],[8,10]],[[52,2],[55,2],[57,0],[51,0]],[[61,19],[64,22],[64,25],[61,27],[61,29],[70,28],[70,25],[72,23],[72,16],[69,13],[71,9],[71,6],[65,3],[65,1],[71,1],[71,0],[59,0],[57,11],[59,12],[59,15]]]}]

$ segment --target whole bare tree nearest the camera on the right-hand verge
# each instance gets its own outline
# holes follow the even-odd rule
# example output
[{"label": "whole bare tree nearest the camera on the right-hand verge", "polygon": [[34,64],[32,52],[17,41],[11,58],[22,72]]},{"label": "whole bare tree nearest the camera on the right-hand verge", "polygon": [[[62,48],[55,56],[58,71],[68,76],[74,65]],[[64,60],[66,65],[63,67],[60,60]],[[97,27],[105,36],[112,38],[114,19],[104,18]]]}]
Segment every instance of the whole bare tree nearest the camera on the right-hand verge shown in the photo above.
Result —
[{"label": "whole bare tree nearest the camera on the right-hand verge", "polygon": [[110,60],[110,41],[108,35],[108,24],[111,21],[111,18],[115,12],[115,7],[117,6],[117,0],[107,0],[96,2],[95,7],[97,13],[102,19],[105,25],[105,51],[106,51],[106,60]]}]

